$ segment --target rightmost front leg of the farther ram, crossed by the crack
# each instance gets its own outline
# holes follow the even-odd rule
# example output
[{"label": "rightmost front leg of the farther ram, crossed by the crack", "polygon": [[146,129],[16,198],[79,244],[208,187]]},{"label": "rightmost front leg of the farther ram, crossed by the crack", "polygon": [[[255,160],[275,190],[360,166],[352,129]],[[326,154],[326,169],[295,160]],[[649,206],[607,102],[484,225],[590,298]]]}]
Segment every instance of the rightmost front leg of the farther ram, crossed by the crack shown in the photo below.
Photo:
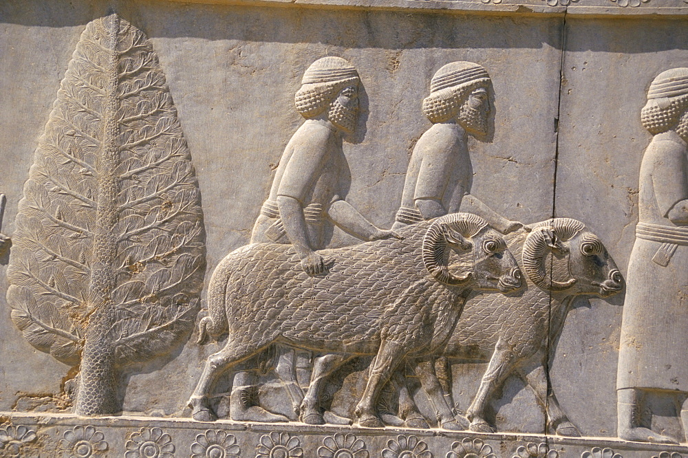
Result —
[{"label": "rightmost front leg of the farther ram, crossed by the crack", "polygon": [[[560,436],[580,437],[580,431],[573,426],[566,414],[563,413],[557,397],[548,386],[547,371],[544,365],[544,351],[539,351],[519,372],[528,383],[528,386],[533,389],[537,402],[539,402],[542,408],[546,409],[547,428],[554,429],[557,435]],[[545,428],[544,433],[548,432],[547,428]]]}]

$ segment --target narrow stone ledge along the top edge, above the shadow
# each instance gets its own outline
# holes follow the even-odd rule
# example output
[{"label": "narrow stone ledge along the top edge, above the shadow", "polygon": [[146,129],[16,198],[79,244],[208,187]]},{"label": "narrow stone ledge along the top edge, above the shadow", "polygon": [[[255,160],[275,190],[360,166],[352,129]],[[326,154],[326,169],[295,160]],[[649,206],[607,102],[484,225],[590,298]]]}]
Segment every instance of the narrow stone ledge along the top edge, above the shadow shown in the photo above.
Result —
[{"label": "narrow stone ledge along the top edge, above the shadow", "polygon": [[497,14],[666,19],[688,15],[688,3],[660,0],[170,0],[226,6],[272,6],[353,10],[416,10],[445,14]]}]

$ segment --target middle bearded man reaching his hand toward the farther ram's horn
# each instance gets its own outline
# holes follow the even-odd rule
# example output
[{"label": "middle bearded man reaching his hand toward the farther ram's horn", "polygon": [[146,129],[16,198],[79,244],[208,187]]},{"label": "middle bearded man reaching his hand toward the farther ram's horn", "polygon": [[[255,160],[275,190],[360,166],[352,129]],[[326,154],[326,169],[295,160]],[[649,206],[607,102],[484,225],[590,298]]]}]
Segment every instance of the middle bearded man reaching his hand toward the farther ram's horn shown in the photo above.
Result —
[{"label": "middle bearded man reaching his hand toward the farther ram's horn", "polygon": [[452,62],[440,68],[430,83],[422,111],[433,122],[418,140],[406,173],[401,206],[393,229],[464,211],[484,217],[507,233],[522,227],[497,215],[470,194],[471,157],[468,135],[488,130],[490,76],[481,65]]}]

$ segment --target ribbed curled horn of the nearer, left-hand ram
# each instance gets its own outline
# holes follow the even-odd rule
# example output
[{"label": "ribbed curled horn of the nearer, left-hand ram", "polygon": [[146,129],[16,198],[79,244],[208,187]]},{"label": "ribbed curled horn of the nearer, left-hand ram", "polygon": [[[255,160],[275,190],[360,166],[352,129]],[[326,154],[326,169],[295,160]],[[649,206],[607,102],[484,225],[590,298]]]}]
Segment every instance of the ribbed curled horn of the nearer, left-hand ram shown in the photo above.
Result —
[{"label": "ribbed curled horn of the nearer, left-hand ram", "polygon": [[487,221],[471,213],[453,213],[445,215],[431,224],[423,239],[423,263],[428,272],[438,281],[448,285],[459,285],[471,278],[471,272],[462,276],[455,276],[449,272],[447,266],[447,241],[453,241],[469,249],[471,246],[466,241],[453,240],[455,236],[473,237],[487,226]]}]

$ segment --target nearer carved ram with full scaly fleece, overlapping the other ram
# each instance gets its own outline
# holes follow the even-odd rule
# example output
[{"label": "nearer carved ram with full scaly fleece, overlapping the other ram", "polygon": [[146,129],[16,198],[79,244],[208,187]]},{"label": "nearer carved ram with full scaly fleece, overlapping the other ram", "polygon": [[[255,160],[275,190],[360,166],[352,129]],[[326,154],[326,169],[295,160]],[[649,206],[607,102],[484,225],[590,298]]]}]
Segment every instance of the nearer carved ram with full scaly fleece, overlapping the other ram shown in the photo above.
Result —
[{"label": "nearer carved ram with full scaly fleece, overlapping the other ram", "polygon": [[[216,418],[208,396],[219,375],[282,343],[338,356],[329,367],[376,356],[356,415],[361,426],[382,426],[375,401],[399,362],[445,345],[471,290],[521,285],[506,242],[480,217],[447,215],[399,233],[323,250],[333,265],[316,277],[303,272],[291,246],[259,243],[228,254],[213,272],[210,316],[200,322],[201,338],[227,332],[228,340],[206,361],[189,400],[193,417]],[[317,399],[315,385],[307,399]]]}]

